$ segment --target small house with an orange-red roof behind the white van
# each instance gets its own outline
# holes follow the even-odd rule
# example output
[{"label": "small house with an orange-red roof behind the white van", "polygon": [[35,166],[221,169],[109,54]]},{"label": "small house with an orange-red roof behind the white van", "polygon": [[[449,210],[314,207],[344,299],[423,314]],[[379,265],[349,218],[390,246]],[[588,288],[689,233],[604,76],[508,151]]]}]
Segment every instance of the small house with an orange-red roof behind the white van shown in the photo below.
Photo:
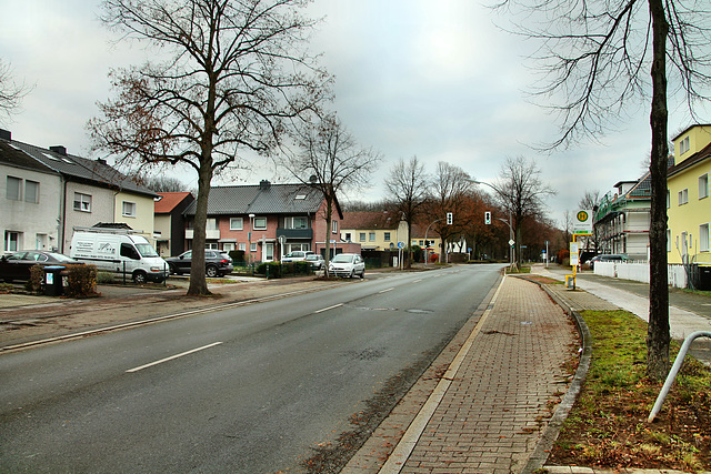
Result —
[{"label": "small house with an orange-red roof behind the white van", "polygon": [[159,192],[156,200],[153,233],[160,256],[174,256],[186,251],[183,212],[194,201],[189,192]]}]

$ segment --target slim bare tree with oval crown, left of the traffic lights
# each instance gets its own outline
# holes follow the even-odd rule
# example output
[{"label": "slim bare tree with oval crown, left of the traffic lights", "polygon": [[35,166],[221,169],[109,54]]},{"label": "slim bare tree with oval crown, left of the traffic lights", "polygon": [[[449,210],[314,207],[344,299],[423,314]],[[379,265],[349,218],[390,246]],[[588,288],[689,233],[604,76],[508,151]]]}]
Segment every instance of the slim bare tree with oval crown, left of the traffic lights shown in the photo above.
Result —
[{"label": "slim bare tree with oval crown, left of the traffic lights", "polygon": [[388,199],[394,203],[398,215],[402,215],[408,223],[408,249],[410,258],[408,268],[412,265],[412,223],[422,213],[427,199],[429,177],[424,172],[424,165],[417,157],[409,162],[398,161],[390,170],[385,180]]}]

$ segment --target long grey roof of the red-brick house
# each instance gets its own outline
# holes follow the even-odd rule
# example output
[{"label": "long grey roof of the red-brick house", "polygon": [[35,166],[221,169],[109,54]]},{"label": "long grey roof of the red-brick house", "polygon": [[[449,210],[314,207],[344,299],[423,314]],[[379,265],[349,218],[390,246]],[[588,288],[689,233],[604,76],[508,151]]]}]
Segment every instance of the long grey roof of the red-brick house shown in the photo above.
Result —
[{"label": "long grey roof of the red-brick house", "polygon": [[[307,184],[262,184],[210,188],[208,215],[307,214],[316,213],[323,194]],[[194,215],[198,201],[186,208]]]}]

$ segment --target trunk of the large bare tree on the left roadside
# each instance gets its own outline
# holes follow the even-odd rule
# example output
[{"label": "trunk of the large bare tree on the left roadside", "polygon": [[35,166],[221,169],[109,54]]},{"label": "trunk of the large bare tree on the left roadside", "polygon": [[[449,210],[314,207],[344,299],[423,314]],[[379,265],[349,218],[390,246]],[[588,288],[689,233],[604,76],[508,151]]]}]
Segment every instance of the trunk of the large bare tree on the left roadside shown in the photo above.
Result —
[{"label": "trunk of the large bare tree on the left roadside", "polygon": [[196,220],[192,224],[192,262],[190,263],[190,286],[188,294],[202,296],[210,294],[204,275],[204,246],[207,240],[208,199],[210,196],[210,182],[212,181],[212,160],[204,158],[198,172],[198,202]]}]

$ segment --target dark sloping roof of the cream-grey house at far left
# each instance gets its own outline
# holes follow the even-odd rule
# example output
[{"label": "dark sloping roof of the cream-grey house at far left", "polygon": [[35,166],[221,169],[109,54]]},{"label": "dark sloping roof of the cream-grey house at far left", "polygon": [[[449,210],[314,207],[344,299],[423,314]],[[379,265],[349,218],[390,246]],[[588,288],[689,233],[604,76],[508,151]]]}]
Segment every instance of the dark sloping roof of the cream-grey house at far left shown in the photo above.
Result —
[{"label": "dark sloping roof of the cream-grey house at far left", "polygon": [[[133,180],[107,164],[104,160],[88,160],[86,158],[68,154],[63,147],[43,149],[14,140],[0,140],[0,143],[8,144],[14,150],[14,152],[24,153],[46,169],[52,170],[53,172],[67,178],[89,181],[108,188],[118,188],[121,191],[158,198],[158,194],[143,185],[137,184]],[[3,160],[6,150],[7,147],[0,149],[3,154]],[[8,153],[8,155],[13,155],[16,154],[14,152]],[[17,155],[16,159],[18,159]]]}]

